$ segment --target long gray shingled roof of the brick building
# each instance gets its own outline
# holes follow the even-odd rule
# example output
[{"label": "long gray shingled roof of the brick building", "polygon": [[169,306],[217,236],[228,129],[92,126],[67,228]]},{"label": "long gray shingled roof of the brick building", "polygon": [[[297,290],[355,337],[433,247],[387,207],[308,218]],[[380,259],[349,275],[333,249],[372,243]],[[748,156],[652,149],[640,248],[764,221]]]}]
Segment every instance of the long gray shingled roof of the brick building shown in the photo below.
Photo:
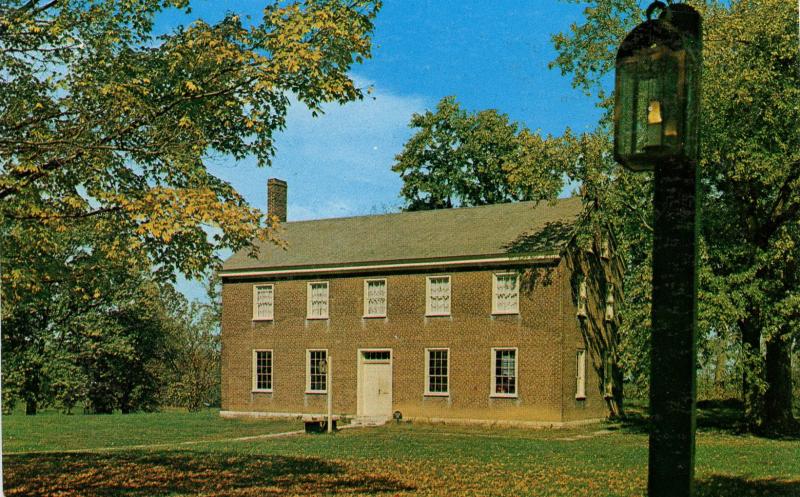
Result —
[{"label": "long gray shingled roof of the brick building", "polygon": [[283,223],[287,247],[260,244],[257,259],[232,255],[223,271],[557,254],[572,237],[579,197],[460,209]]}]

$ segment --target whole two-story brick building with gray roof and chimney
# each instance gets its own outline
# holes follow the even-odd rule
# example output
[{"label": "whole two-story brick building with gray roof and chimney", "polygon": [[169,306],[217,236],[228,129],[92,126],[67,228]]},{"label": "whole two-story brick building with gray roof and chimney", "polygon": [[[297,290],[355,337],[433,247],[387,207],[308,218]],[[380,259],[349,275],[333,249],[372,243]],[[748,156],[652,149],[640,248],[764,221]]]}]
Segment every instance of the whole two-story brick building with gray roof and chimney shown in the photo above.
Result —
[{"label": "whole two-story brick building with gray roof and chimney", "polygon": [[[286,183],[269,190],[285,221]],[[283,223],[285,249],[234,254],[221,271],[222,415],[321,414],[332,387],[334,412],[363,418],[605,417],[615,290],[583,274],[595,271],[585,253],[569,257],[581,209],[569,198]],[[608,258],[598,248],[588,260]]]}]

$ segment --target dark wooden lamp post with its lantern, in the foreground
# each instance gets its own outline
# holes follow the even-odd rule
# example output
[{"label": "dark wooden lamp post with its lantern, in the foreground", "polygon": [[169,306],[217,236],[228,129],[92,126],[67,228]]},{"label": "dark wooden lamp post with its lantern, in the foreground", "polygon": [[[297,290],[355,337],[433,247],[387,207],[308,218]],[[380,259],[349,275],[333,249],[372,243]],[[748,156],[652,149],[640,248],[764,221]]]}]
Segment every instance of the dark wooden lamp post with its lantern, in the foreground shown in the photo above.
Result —
[{"label": "dark wooden lamp post with its lantern, in the foreground", "polygon": [[701,25],[692,7],[656,1],[616,59],[614,158],[655,172],[650,497],[694,492]]}]

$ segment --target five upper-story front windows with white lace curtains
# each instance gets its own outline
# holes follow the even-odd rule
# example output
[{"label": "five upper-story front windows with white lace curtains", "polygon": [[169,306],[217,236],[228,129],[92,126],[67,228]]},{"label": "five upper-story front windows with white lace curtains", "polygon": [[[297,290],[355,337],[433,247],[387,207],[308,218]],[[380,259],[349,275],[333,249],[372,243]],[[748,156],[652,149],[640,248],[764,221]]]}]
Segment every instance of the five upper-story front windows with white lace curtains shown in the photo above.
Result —
[{"label": "five upper-story front windows with white lace curtains", "polygon": [[[519,278],[516,273],[492,275],[492,314],[519,313]],[[386,279],[364,280],[364,317],[386,317],[389,289]],[[306,285],[306,319],[328,319],[329,285],[312,281]],[[451,310],[450,276],[425,279],[425,315],[449,316]],[[275,316],[275,285],[253,286],[253,320],[272,320]]]}]

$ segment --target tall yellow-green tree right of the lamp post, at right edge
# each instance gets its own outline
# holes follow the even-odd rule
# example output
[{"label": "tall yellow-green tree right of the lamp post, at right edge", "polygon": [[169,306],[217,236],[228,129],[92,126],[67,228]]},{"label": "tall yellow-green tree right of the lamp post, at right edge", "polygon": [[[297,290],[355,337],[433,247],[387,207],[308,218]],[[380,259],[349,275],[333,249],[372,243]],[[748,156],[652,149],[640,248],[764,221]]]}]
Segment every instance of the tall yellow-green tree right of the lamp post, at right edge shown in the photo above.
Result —
[{"label": "tall yellow-green tree right of the lamp post, at right edge", "polygon": [[756,367],[764,342],[763,377],[745,376],[748,406],[778,430],[795,427],[790,354],[800,336],[796,7],[769,0],[711,6],[712,64],[704,68],[706,240]]}]

